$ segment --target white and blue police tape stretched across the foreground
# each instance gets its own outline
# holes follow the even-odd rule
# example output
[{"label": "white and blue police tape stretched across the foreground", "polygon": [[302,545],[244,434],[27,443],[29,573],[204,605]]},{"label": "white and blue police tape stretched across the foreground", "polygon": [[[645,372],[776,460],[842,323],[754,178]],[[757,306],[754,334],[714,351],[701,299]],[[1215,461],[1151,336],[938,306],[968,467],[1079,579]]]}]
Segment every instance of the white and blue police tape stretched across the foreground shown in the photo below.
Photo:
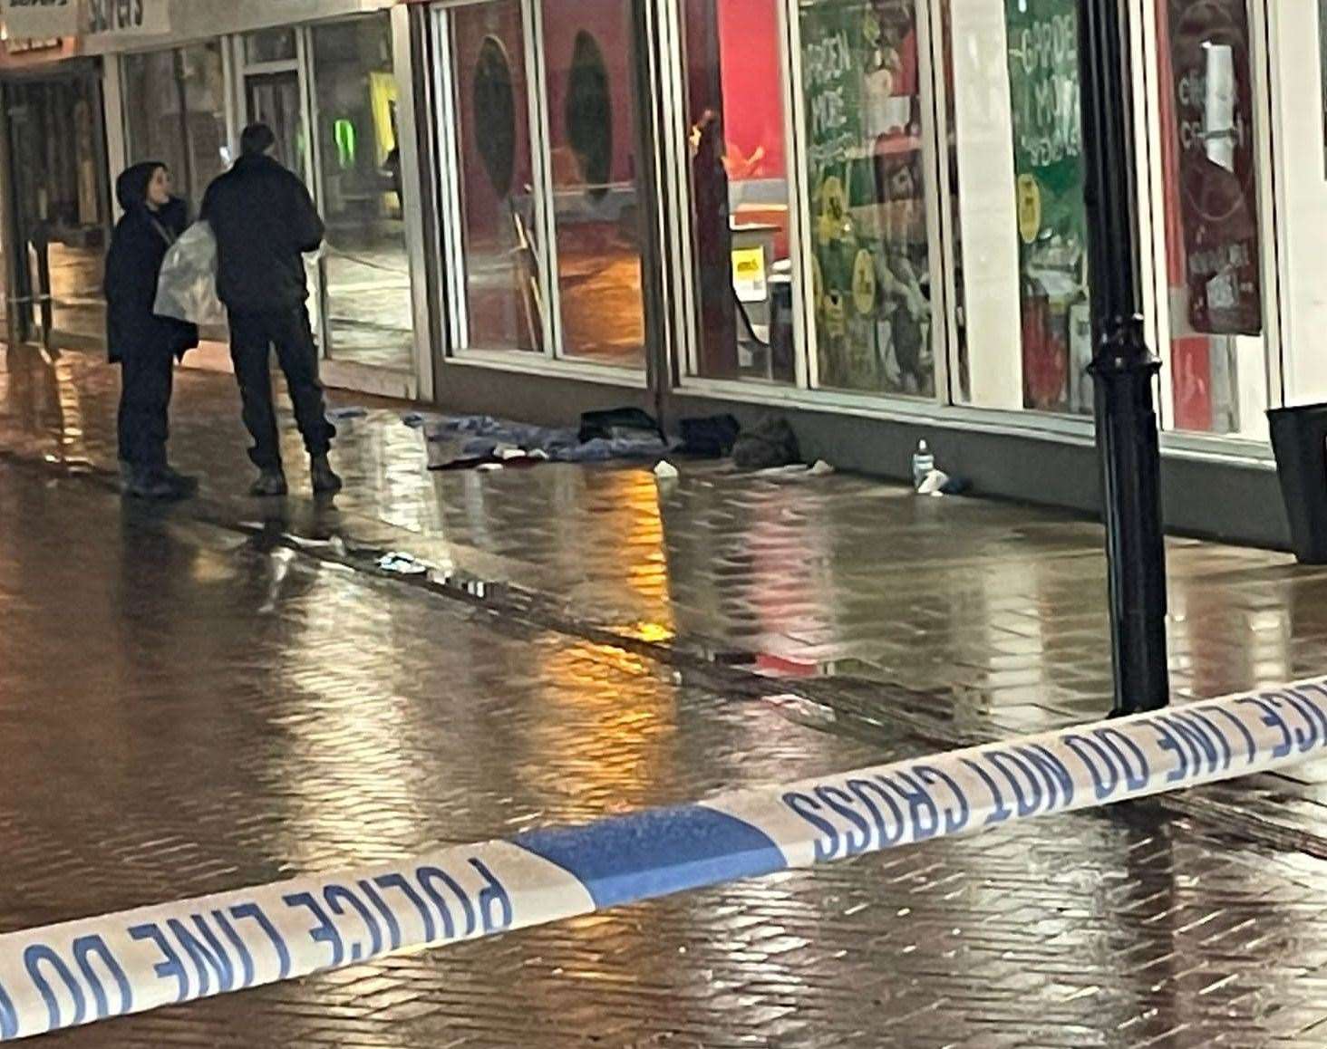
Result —
[{"label": "white and blue police tape stretched across the foreground", "polygon": [[0,1040],[1287,765],[1327,678],[406,863],[0,935]]}]

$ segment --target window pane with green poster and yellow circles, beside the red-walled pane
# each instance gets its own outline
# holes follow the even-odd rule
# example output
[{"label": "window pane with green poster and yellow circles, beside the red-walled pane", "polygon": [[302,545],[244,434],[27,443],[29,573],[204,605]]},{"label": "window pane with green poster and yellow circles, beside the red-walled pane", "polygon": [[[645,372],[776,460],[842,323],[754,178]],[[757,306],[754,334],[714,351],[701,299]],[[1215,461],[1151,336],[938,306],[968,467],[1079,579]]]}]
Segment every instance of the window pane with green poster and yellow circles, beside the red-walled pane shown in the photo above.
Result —
[{"label": "window pane with green poster and yellow circles, beside the red-walled pane", "polygon": [[916,4],[799,17],[819,385],[934,397]]}]

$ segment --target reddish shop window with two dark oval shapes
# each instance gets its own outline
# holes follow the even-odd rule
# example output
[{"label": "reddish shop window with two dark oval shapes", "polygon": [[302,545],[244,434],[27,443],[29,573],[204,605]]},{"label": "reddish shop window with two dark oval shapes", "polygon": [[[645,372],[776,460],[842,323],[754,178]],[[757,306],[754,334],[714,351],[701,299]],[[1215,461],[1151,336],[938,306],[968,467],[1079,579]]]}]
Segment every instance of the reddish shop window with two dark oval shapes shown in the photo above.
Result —
[{"label": "reddish shop window with two dark oval shapes", "polygon": [[638,4],[435,12],[453,347],[644,369]]}]

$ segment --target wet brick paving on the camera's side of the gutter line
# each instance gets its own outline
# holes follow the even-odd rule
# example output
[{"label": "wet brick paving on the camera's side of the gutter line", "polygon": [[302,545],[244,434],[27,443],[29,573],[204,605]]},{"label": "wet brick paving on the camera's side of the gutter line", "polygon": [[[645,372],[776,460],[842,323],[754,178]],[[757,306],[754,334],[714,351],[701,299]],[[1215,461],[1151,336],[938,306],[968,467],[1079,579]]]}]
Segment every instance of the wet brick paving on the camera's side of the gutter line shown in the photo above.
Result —
[{"label": "wet brick paving on the camera's side of the gutter line", "polygon": [[[924,749],[0,465],[0,928]],[[1140,804],[52,1038],[1320,1045],[1327,867]]]}]

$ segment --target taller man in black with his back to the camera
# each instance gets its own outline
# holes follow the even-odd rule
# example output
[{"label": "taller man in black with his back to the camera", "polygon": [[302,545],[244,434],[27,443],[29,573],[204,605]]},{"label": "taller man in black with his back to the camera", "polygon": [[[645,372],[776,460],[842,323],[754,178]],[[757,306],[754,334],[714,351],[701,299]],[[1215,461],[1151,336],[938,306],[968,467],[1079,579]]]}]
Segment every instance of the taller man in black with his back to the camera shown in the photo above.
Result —
[{"label": "taller man in black with his back to the camera", "polygon": [[240,159],[207,188],[202,217],[216,235],[216,293],[230,316],[231,359],[253,438],[249,459],[259,477],[251,492],[287,492],[272,406],[272,346],[309,452],[313,491],[336,492],[341,479],[328,463],[336,430],[318,382],[304,275],[304,253],[321,247],[325,229],[304,183],[271,155],[275,145],[267,125],[245,127]]}]

